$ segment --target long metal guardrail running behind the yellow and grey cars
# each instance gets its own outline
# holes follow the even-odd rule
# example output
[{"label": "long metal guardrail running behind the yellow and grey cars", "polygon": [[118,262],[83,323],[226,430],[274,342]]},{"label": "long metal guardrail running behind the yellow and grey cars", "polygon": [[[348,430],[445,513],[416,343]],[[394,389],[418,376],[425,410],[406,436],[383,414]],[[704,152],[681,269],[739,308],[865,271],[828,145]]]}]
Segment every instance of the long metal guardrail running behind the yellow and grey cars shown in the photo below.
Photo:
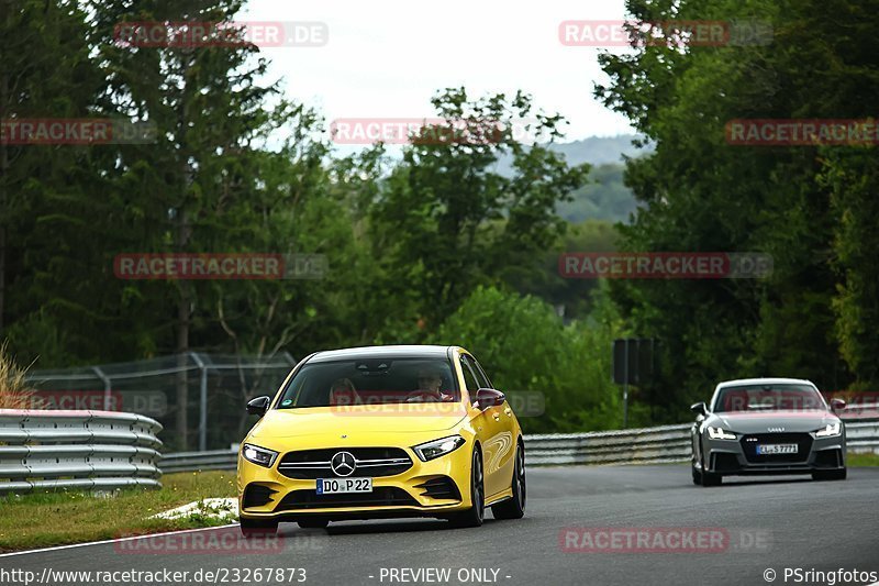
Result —
[{"label": "long metal guardrail running behind the yellow and grey cars", "polygon": [[[849,454],[879,454],[879,418],[845,421]],[[687,462],[690,425],[525,435],[526,462],[536,466]],[[229,450],[165,454],[162,461],[166,473],[232,471],[236,466],[237,452]]]}]

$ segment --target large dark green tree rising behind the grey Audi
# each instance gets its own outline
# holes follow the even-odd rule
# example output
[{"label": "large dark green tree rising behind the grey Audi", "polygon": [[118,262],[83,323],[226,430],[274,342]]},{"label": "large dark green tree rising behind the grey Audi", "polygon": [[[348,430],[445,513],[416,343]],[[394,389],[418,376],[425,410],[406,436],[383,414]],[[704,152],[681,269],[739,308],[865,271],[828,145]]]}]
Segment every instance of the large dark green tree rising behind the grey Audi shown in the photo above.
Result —
[{"label": "large dark green tree rising behind the grey Audi", "polygon": [[871,115],[869,96],[879,89],[869,33],[876,3],[630,0],[626,7],[643,21],[758,14],[775,30],[765,45],[649,44],[601,57],[612,81],[597,95],[656,144],[653,155],[627,165],[626,183],[643,209],[621,228],[622,246],[754,251],[775,261],[765,280],[614,284],[638,333],[664,341],[661,417],[683,417],[721,378],[845,384],[830,262],[839,210],[817,180],[819,150],[735,146],[724,126],[733,119]]}]

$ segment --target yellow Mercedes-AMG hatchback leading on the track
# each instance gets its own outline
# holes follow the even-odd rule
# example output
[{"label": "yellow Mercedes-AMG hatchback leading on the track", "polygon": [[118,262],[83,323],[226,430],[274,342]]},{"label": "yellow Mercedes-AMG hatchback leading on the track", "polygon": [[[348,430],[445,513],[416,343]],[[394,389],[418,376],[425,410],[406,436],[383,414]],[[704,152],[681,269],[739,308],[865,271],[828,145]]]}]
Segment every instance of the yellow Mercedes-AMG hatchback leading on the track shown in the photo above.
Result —
[{"label": "yellow Mercedes-AMG hatchback leading on the track", "polygon": [[318,352],[277,395],[238,453],[242,532],[279,521],[436,517],[457,527],[525,512],[525,451],[510,403],[457,346]]}]

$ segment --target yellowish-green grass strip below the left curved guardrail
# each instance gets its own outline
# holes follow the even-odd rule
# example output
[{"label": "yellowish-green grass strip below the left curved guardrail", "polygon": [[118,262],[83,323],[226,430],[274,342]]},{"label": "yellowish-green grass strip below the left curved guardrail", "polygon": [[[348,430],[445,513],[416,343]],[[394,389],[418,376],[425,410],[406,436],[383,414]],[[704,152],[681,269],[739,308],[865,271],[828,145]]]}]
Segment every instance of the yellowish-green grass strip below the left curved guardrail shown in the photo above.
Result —
[{"label": "yellowish-green grass strip below the left curved guardrail", "polygon": [[202,498],[235,496],[234,472],[168,474],[162,484],[160,490],[127,489],[109,496],[0,497],[0,553],[223,524],[200,513],[175,520],[149,517]]}]

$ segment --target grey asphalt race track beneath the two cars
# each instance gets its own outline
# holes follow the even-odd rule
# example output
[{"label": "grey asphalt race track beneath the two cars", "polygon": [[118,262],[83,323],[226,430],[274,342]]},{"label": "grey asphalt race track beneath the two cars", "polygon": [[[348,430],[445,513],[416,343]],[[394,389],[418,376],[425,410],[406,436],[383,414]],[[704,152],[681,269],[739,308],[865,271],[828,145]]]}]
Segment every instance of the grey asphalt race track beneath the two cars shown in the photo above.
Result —
[{"label": "grey asphalt race track beneath the two cars", "polygon": [[[180,544],[177,534],[153,538],[151,548],[137,540],[0,556],[0,568],[37,576],[45,567],[53,572],[168,568],[189,571],[190,576],[198,570],[226,568],[214,579],[190,577],[186,583],[225,578],[227,584],[242,584],[249,577],[251,584],[297,584],[299,573],[280,581],[276,576],[267,581],[265,575],[257,581],[242,573],[285,567],[304,568],[304,584],[343,586],[759,585],[768,583],[764,575],[771,568],[775,584],[828,584],[808,581],[806,574],[799,582],[795,575],[786,581],[785,568],[879,572],[877,496],[879,468],[849,469],[844,482],[812,482],[805,476],[726,478],[723,486],[712,488],[693,486],[689,467],[681,465],[530,468],[526,517],[494,521],[488,515],[480,529],[446,529],[445,522],[434,520],[353,521],[333,523],[325,531],[281,524],[282,548],[268,552],[242,552],[242,545],[233,543],[222,553],[159,553]],[[587,537],[594,538],[596,546],[604,543],[604,550],[563,551],[566,528],[589,528]],[[668,538],[672,551],[621,552],[625,541],[616,550],[607,539],[599,541],[600,530],[607,528],[653,531],[650,535],[666,531],[667,537],[667,530],[680,528],[721,531],[724,541],[722,548],[693,553],[675,550]],[[231,535],[237,528],[188,535],[203,539],[211,532]],[[582,539],[583,532],[574,535]],[[425,568],[447,568],[449,579],[411,573]]]}]

